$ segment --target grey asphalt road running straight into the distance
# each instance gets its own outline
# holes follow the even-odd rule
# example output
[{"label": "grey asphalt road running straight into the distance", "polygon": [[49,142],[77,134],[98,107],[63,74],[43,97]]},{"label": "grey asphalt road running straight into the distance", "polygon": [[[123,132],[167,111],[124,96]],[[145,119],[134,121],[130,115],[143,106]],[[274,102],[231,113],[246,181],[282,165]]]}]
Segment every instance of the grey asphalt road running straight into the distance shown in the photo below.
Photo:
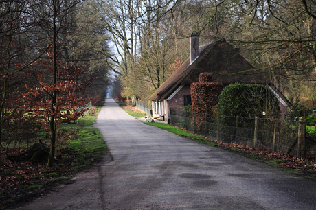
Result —
[{"label": "grey asphalt road running straight into the distance", "polygon": [[21,209],[316,209],[316,182],[143,124],[98,116],[113,161]]}]

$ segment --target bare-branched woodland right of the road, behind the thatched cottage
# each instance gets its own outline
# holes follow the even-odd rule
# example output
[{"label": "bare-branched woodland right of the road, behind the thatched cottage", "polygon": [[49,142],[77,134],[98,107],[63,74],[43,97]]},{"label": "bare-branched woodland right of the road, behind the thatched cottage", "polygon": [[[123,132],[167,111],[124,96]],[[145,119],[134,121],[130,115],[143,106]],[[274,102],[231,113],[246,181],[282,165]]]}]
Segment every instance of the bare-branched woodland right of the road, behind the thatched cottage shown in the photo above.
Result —
[{"label": "bare-branched woodland right of the road, behind the thatched cottage", "polygon": [[291,102],[315,107],[315,1],[106,2],[102,16],[111,20],[105,26],[116,51],[109,62],[122,88],[117,97],[146,103],[188,58],[188,37],[196,31],[201,44],[224,39],[239,49]]}]

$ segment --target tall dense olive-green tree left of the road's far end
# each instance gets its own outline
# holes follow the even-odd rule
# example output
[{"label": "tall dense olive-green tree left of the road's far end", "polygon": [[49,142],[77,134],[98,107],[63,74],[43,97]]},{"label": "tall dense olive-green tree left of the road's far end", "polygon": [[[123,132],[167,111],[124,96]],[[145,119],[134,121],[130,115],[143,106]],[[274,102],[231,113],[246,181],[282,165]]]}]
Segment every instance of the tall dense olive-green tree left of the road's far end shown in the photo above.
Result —
[{"label": "tall dense olive-green tree left of the road's far end", "polygon": [[87,93],[100,95],[109,85],[109,66],[104,56],[104,52],[109,53],[108,32],[103,28],[100,11],[95,10],[95,2],[84,1],[77,8],[72,33],[67,37],[69,57],[84,63],[87,73],[96,78]]}]

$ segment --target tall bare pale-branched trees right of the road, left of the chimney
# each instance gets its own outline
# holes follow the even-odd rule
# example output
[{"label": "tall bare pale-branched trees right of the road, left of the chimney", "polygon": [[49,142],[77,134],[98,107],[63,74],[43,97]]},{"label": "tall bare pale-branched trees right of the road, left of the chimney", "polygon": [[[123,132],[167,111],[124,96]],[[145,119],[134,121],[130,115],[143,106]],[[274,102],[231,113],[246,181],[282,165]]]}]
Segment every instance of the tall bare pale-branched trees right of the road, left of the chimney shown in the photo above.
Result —
[{"label": "tall bare pale-branched trees right of the road, left of the chimney", "polygon": [[[168,34],[161,17],[177,1],[120,0],[99,3],[104,30],[109,32],[113,51],[105,55],[111,69],[122,76],[125,93],[135,97],[133,84],[150,82],[157,88],[168,75]],[[152,69],[155,68],[155,69]],[[128,91],[129,90],[129,91]]]}]

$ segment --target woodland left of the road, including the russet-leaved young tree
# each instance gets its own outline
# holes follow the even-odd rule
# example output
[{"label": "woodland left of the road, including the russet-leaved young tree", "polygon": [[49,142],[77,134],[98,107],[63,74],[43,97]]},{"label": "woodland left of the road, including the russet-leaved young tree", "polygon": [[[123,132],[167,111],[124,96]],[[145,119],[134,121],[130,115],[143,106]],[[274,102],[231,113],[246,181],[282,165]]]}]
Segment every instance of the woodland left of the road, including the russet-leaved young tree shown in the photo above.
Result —
[{"label": "woodland left of the road, including the russet-leaved young tree", "polygon": [[102,100],[107,35],[83,1],[1,1],[0,146],[46,132],[52,167],[58,124]]}]

